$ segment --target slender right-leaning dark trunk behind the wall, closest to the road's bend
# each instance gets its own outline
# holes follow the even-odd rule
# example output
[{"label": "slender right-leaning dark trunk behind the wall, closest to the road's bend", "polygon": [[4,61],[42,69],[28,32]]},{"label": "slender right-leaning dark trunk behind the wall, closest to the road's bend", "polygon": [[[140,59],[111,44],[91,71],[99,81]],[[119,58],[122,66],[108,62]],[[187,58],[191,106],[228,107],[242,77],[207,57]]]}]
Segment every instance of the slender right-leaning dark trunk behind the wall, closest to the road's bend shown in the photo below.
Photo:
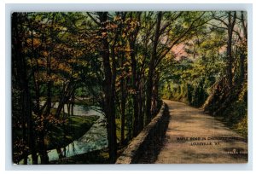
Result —
[{"label": "slender right-leaning dark trunk behind the wall, closest to the road's bend", "polygon": [[147,98],[146,98],[146,124],[150,122],[152,119],[152,90],[153,90],[153,78],[154,78],[154,67],[155,61],[157,59],[157,45],[158,40],[160,38],[160,22],[161,22],[162,13],[159,12],[157,14],[157,22],[155,26],[155,33],[154,33],[154,42],[153,42],[153,49],[152,54],[149,62],[149,70],[148,70],[148,81],[147,81]]}]

